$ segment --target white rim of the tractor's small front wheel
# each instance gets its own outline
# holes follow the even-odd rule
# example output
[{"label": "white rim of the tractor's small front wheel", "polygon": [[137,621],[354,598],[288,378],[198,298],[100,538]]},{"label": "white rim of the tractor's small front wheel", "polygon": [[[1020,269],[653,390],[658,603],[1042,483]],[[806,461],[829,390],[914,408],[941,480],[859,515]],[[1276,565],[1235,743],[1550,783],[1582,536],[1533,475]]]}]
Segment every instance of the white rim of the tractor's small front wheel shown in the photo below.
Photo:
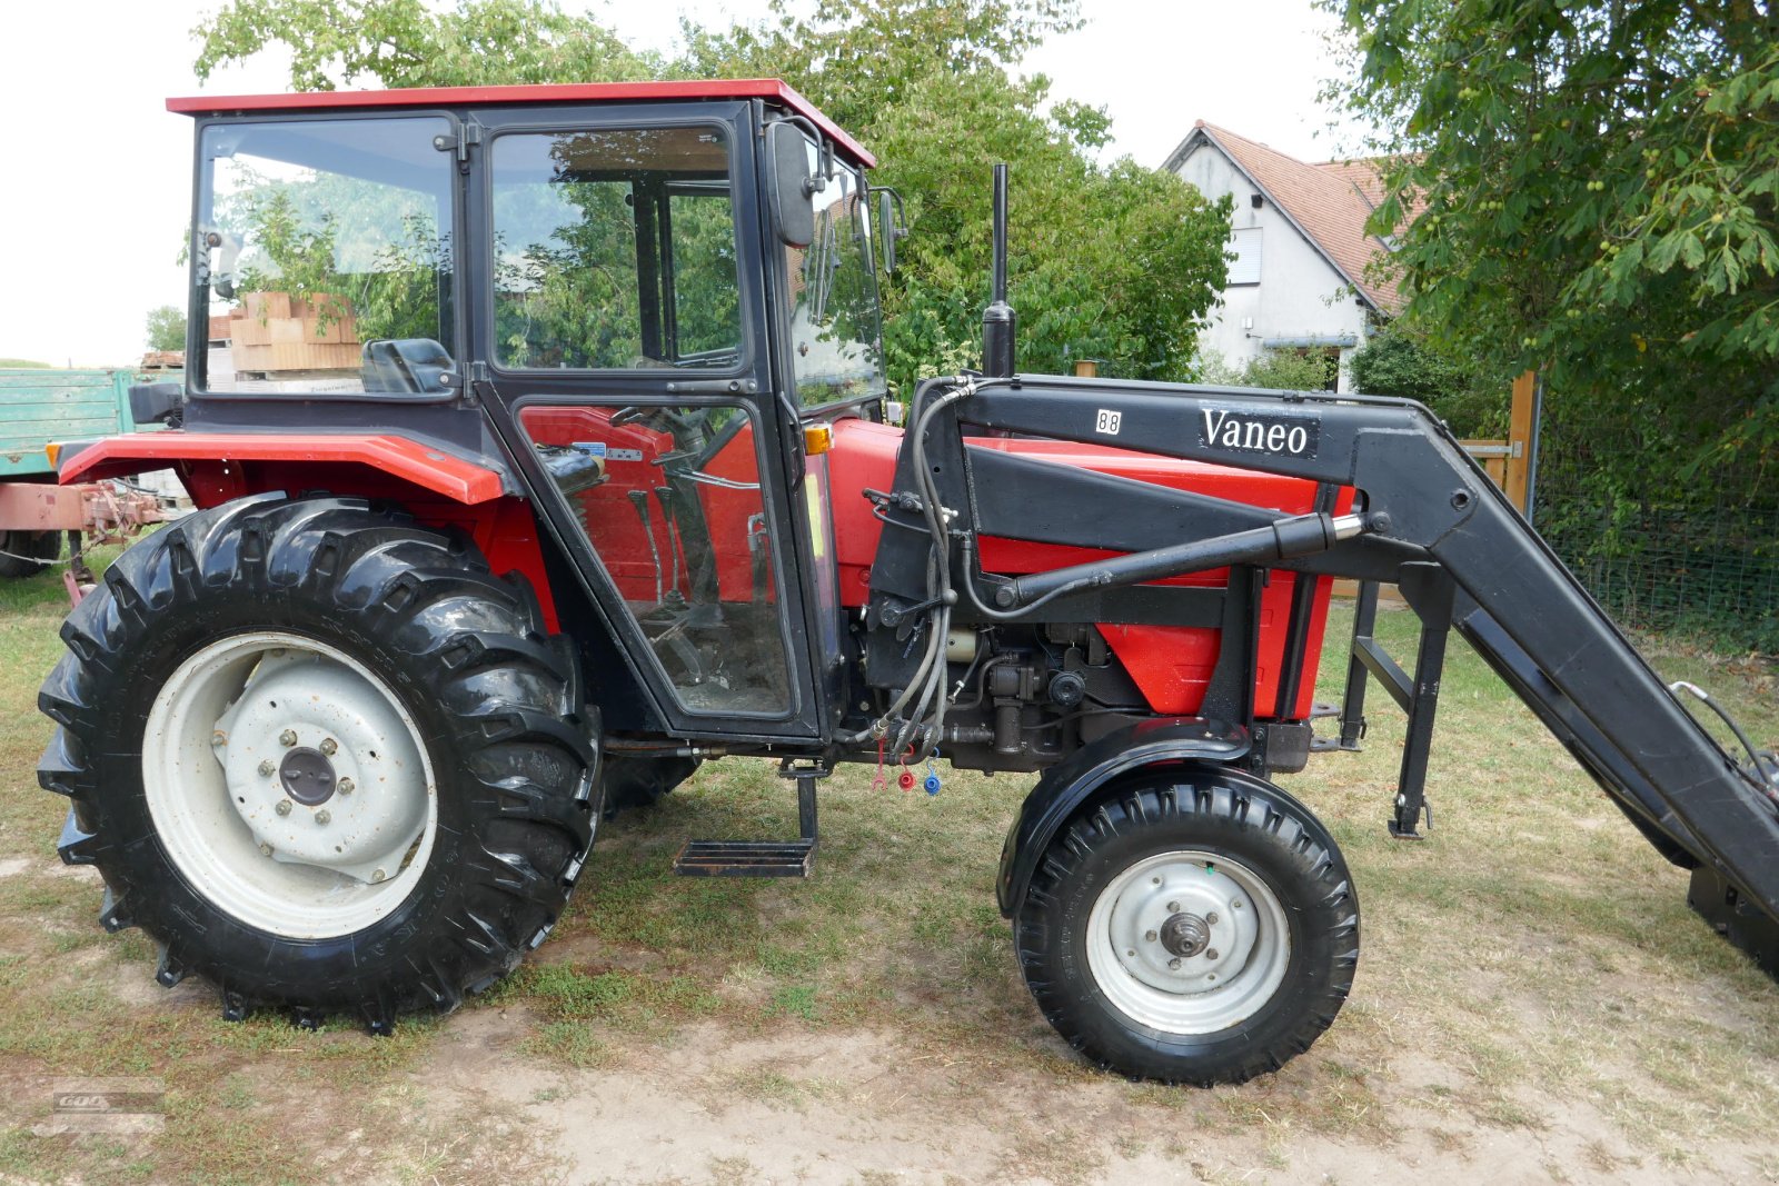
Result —
[{"label": "white rim of the tractor's small front wheel", "polygon": [[1292,935],[1279,896],[1229,857],[1179,850],[1139,861],[1094,900],[1087,966],[1131,1021],[1215,1033],[1260,1012],[1284,982]]}]

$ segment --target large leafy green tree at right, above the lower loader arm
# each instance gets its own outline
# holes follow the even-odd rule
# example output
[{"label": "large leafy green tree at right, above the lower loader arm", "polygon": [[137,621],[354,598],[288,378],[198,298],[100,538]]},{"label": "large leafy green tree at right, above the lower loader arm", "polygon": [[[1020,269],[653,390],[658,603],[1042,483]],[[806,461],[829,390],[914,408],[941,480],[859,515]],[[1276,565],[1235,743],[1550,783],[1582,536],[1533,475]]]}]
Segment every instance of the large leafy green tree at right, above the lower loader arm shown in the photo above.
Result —
[{"label": "large leafy green tree at right, above the lower loader arm", "polygon": [[1373,229],[1400,244],[1407,320],[1501,373],[1544,368],[1546,457],[1592,450],[1590,496],[1770,503],[1779,5],[1324,4],[1352,105],[1398,130]]}]

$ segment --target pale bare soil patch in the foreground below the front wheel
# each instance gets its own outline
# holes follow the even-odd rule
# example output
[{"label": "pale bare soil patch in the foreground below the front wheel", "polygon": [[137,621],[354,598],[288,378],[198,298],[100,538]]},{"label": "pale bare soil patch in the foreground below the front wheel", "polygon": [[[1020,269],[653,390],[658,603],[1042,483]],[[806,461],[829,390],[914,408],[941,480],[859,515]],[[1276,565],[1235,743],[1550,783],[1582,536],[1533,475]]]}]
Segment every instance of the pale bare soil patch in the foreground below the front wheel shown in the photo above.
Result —
[{"label": "pale bare soil patch in the foreground below the front wheel", "polygon": [[[1281,1076],[1213,1092],[1133,1088],[1075,1072],[1032,1076],[906,1035],[683,1031],[669,1047],[616,1040],[616,1065],[557,1069],[525,1054],[521,1010],[454,1017],[416,1070],[429,1120],[519,1117],[511,1140],[560,1181],[667,1182],[1761,1182],[1770,1143],[1713,1142],[1683,1165],[1633,1149],[1585,1101],[1528,1086],[1530,1120],[1478,1126],[1466,1076],[1414,1053],[1391,1060],[1350,1133],[1293,1127],[1268,1099]],[[601,1035],[607,1038],[608,1035]],[[518,1149],[516,1149],[518,1152]],[[471,1161],[466,1159],[464,1166]],[[489,1166],[482,1166],[489,1168]],[[452,1181],[450,1174],[439,1181]]]}]

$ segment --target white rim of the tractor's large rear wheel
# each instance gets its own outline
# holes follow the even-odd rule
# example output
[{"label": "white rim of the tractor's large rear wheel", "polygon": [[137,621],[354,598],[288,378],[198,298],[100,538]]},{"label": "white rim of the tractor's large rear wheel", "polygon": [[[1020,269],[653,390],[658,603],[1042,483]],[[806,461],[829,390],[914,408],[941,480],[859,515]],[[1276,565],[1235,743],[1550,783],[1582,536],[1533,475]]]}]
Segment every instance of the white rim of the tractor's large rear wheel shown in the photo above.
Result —
[{"label": "white rim of the tractor's large rear wheel", "polygon": [[192,887],[288,939],[386,918],[438,832],[402,702],[358,660],[281,631],[213,642],[173,672],[148,713],[142,789]]}]

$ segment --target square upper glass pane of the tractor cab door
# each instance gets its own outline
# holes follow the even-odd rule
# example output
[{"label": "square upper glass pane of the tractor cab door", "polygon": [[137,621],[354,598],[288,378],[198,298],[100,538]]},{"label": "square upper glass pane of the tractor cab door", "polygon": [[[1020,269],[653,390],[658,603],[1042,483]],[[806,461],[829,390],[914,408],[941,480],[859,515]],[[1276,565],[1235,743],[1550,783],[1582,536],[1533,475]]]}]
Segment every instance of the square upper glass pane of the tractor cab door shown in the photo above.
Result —
[{"label": "square upper glass pane of the tractor cab door", "polygon": [[500,366],[738,366],[722,128],[502,135],[493,174]]}]

